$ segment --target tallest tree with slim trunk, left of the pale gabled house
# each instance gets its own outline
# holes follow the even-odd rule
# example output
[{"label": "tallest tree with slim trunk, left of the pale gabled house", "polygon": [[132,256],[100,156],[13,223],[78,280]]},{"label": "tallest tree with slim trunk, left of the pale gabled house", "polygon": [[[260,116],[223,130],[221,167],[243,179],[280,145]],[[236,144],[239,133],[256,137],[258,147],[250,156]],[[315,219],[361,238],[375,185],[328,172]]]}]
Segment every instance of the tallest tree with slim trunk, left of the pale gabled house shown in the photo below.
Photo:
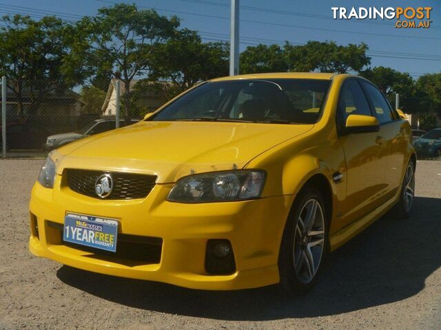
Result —
[{"label": "tallest tree with slim trunk, left of the pale gabled house", "polygon": [[[84,76],[99,81],[110,72],[121,72],[124,82],[123,111],[130,109],[130,83],[152,69],[152,55],[176,32],[177,17],[167,19],[155,10],[138,10],[119,3],[101,8],[96,17],[84,17],[77,25],[71,63],[82,66]],[[86,61],[81,62],[81,58]]]}]

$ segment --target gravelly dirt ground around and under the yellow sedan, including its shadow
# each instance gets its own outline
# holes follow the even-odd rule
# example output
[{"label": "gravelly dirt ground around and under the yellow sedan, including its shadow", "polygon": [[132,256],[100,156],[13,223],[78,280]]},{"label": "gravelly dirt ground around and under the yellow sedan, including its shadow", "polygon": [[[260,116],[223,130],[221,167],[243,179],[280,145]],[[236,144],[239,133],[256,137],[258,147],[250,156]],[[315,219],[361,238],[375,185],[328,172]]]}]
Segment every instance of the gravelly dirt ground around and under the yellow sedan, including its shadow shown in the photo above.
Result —
[{"label": "gravelly dirt ground around and under the yellow sedan, including its shadow", "polygon": [[331,254],[307,296],[198,292],[75,270],[28,252],[42,160],[0,160],[0,329],[441,329],[441,162],[417,166],[407,220]]}]

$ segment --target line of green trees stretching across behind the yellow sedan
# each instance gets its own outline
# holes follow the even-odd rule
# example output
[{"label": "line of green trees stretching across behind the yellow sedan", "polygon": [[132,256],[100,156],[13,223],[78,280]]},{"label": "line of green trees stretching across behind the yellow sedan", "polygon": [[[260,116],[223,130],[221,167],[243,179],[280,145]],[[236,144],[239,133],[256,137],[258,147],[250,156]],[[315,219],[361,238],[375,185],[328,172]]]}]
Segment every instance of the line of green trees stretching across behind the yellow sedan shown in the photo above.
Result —
[{"label": "line of green trees stretching across behind the yellow sedan", "polygon": [[[75,24],[18,14],[1,21],[0,75],[8,77],[21,114],[24,93],[30,96],[32,113],[48,94],[84,84],[89,87],[81,91],[87,103],[83,111],[99,113],[110,80],[119,72],[125,116],[139,116],[196,83],[228,74],[227,43],[203,43],[197,32],[178,30],[177,17],[138,10],[136,5],[101,8],[95,17]],[[370,68],[367,50],[365,43],[334,41],[260,44],[240,54],[240,71],[358,72],[376,83],[392,104],[400,94],[403,111],[441,114],[441,74],[415,81],[389,67]],[[143,79],[133,86],[136,78]]]}]

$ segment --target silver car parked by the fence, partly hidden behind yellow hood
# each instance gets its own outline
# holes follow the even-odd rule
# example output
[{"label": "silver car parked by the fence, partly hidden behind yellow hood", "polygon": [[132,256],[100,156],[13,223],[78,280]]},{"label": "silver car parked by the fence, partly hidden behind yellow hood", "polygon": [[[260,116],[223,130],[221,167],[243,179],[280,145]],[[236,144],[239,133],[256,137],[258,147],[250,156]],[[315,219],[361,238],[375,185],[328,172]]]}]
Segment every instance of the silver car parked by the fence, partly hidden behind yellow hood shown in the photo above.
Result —
[{"label": "silver car parked by the fence, partly hidden behind yellow hood", "polygon": [[[134,124],[139,120],[131,119],[128,122],[126,120],[120,120],[120,127],[127,126],[127,124]],[[103,133],[105,131],[110,131],[115,128],[115,120],[114,119],[97,119],[90,124],[84,126],[82,129],[76,132],[70,133],[61,133],[50,135],[46,139],[46,143],[44,145],[45,151],[52,151],[53,149],[59,148],[65,144],[81,139],[82,137],[86,137],[89,135],[94,135],[98,133]]]}]

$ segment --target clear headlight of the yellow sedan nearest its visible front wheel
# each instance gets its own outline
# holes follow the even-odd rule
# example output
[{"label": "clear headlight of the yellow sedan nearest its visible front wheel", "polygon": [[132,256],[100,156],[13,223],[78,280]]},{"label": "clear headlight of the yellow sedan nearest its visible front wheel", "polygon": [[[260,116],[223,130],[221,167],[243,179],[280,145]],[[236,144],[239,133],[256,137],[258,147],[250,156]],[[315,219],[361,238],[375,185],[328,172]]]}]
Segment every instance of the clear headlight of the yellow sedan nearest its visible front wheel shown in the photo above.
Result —
[{"label": "clear headlight of the yellow sedan nearest its visible front wheel", "polygon": [[181,203],[241,201],[260,197],[265,184],[263,170],[232,170],[183,177],[167,197]]}]

